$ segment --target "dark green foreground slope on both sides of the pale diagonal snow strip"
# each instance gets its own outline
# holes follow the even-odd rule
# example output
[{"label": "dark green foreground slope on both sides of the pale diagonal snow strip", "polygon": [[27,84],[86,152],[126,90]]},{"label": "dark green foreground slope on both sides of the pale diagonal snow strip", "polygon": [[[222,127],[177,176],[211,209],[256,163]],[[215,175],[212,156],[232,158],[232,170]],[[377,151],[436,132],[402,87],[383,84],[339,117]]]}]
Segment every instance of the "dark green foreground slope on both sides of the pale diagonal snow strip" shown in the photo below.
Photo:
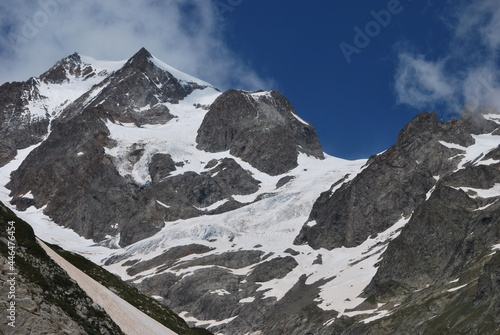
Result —
[{"label": "dark green foreground slope on both sides of the pale diagonal snow strip", "polygon": [[[14,229],[9,228],[14,227]],[[15,240],[12,240],[12,237]],[[11,240],[9,240],[9,238]],[[9,243],[9,241],[11,243]],[[70,263],[102,285],[180,335],[211,334],[205,329],[190,328],[186,322],[155,299],[141,294],[86,258],[49,245]],[[10,248],[9,248],[10,247]],[[9,259],[9,251],[15,257]],[[10,262],[9,262],[10,261]],[[14,276],[11,266],[14,268]],[[0,203],[0,272],[2,326],[0,334],[64,333],[122,334],[120,328],[86,293],[45,253],[36,242],[29,224]],[[10,277],[15,278],[8,282]],[[14,294],[14,299],[7,299]],[[15,303],[10,319],[7,307]],[[11,321],[14,320],[14,321]],[[10,326],[8,322],[13,322]],[[15,325],[15,327],[12,327]],[[5,326],[5,327],[4,327]],[[1,329],[5,329],[1,330]]]}]

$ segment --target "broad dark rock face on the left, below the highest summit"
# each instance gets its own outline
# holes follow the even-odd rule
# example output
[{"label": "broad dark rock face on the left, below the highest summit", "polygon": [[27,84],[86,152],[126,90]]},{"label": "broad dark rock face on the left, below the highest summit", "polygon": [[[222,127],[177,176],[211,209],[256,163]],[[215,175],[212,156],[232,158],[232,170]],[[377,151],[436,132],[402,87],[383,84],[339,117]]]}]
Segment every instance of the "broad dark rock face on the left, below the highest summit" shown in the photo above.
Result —
[{"label": "broad dark rock face on the left, below the highest summit", "polygon": [[[107,127],[92,111],[54,125],[12,174],[12,203],[31,191],[37,208],[47,205],[56,222],[96,241],[118,232],[125,241],[149,236],[163,226],[161,211],[117,173],[104,151],[109,144]],[[117,223],[119,229],[112,227]]]}]

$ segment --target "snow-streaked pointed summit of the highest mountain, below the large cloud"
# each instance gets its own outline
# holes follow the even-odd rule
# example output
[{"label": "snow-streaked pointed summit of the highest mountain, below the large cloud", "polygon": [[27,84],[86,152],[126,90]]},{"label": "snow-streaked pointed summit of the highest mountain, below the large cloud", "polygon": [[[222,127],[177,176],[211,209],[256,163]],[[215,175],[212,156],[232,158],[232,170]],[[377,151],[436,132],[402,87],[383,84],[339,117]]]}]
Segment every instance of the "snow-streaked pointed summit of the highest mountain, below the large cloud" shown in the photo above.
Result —
[{"label": "snow-streaked pointed summit of the highest mountain, below the large cloud", "polygon": [[[124,79],[126,87],[119,90]],[[133,85],[130,85],[132,82],[139,85],[138,90],[147,90],[149,98],[136,96],[133,101],[127,101],[128,96],[134,94]],[[23,113],[25,118],[34,121],[57,118],[66,107],[83,96],[86,96],[86,104],[97,98],[100,101],[108,99],[107,96],[98,97],[106,91],[106,87],[126,96],[109,98],[113,104],[135,105],[142,109],[150,103],[155,105],[182,100],[195,89],[214,89],[209,83],[162,62],[144,48],[122,61],[101,61],[74,53],[29,83],[22,95]],[[146,89],[148,86],[152,88]]]}]

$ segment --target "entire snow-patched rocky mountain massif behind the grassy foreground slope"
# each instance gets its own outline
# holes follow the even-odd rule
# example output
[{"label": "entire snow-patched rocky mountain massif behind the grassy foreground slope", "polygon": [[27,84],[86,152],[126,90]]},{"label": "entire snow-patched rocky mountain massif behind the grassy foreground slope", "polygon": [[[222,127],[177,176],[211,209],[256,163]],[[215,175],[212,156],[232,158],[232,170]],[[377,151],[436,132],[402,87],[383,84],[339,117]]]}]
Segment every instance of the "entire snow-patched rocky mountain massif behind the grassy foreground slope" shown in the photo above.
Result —
[{"label": "entire snow-patched rocky mountain massif behind the grassy foreground slope", "polygon": [[279,92],[220,92],[141,49],[2,85],[0,135],[0,200],[192,326],[500,331],[496,112],[424,112],[346,161]]}]

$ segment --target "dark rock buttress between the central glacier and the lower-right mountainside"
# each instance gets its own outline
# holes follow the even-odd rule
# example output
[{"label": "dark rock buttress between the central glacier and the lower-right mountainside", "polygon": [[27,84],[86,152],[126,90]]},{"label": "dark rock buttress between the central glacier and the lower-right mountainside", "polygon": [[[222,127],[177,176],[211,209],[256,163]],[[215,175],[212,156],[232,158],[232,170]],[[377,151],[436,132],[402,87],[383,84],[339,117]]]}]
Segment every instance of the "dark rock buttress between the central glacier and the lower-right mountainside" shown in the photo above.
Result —
[{"label": "dark rock buttress between the central glacier and the lower-right mountainside", "polygon": [[409,215],[433,181],[428,171],[405,157],[392,162],[376,158],[355,180],[334,194],[321,195],[309,217],[317,224],[304,226],[295,243],[315,249],[359,245],[392,226],[401,213]]}]

